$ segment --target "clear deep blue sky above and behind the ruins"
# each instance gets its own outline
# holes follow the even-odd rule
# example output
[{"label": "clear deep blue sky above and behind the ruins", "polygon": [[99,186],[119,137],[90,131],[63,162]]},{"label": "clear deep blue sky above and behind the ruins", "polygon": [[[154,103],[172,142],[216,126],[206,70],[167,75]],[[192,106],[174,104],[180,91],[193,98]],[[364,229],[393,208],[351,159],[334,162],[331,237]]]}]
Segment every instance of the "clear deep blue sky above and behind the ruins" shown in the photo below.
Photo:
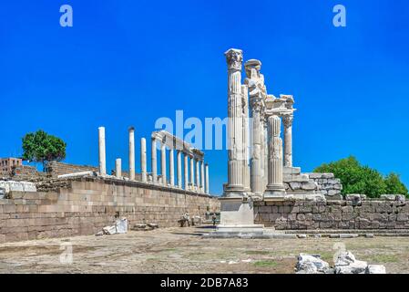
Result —
[{"label": "clear deep blue sky above and behind the ruins", "polygon": [[[74,26],[59,26],[72,5]],[[332,7],[347,27],[332,26]],[[159,117],[224,118],[223,52],[259,58],[271,93],[293,94],[294,164],[308,172],[350,154],[409,184],[409,2],[6,1],[0,9],[0,157],[46,130],[66,162],[128,163],[128,126],[148,137]],[[137,143],[139,151],[139,143]],[[227,180],[225,151],[206,151],[212,193]],[[137,160],[137,167],[139,159]]]}]

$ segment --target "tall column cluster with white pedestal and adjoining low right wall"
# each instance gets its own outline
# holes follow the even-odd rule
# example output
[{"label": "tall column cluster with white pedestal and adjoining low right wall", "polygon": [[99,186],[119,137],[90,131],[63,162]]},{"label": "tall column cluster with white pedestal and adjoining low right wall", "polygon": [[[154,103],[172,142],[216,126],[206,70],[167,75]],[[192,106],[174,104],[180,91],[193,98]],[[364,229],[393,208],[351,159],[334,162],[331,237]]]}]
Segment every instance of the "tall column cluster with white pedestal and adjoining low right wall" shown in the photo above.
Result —
[{"label": "tall column cluster with white pedestal and adjoining low right wall", "polygon": [[[221,224],[211,235],[267,235],[281,230],[407,229],[409,206],[404,196],[368,200],[343,198],[332,173],[302,173],[292,165],[294,98],[276,98],[267,90],[261,61],[244,63],[243,53],[229,49],[228,183],[221,203]],[[283,140],[281,139],[283,128]],[[272,236],[272,235],[271,235]]]}]

